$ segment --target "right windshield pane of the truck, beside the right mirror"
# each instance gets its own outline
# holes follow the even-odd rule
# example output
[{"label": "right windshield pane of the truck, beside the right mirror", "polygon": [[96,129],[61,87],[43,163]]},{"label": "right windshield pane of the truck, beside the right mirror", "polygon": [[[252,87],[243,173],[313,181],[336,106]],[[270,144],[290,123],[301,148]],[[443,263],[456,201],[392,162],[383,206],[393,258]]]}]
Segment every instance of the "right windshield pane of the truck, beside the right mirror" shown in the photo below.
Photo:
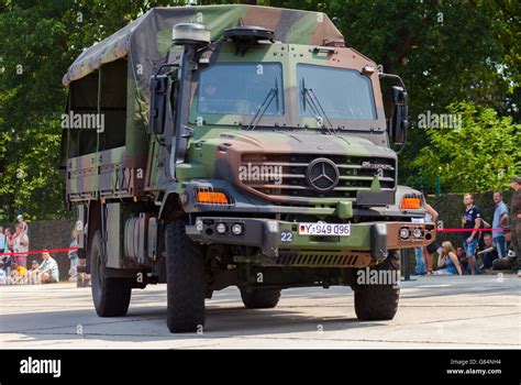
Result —
[{"label": "right windshield pane of the truck, beside the right mirror", "polygon": [[[357,70],[299,64],[297,80],[299,95],[312,90],[331,119],[376,119],[370,79]],[[299,99],[300,116],[315,118],[307,99]]]}]

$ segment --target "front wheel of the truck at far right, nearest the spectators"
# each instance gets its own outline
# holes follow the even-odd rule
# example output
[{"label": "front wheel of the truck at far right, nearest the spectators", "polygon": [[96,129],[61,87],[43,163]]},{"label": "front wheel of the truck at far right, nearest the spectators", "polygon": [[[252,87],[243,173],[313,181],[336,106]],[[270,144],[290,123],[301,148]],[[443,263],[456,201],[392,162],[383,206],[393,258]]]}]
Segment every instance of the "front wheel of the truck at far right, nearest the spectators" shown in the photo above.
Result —
[{"label": "front wheel of the truck at far right, nearest the spectators", "polygon": [[[400,271],[400,253],[389,252],[387,260],[377,265],[376,271],[389,271],[392,274],[380,275],[396,277]],[[373,270],[372,270],[373,271]],[[359,320],[376,321],[390,320],[398,310],[400,289],[396,285],[356,285],[355,312]]]}]

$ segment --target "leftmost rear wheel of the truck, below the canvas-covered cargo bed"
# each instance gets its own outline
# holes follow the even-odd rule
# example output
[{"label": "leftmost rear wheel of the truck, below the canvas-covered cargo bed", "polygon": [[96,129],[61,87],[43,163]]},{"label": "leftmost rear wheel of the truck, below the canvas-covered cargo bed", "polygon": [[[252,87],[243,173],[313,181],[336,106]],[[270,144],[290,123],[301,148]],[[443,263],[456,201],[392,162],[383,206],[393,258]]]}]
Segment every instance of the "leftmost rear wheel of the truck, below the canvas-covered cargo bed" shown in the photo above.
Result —
[{"label": "leftmost rear wheel of the truck, below the canvas-covered cargo bed", "polygon": [[133,279],[107,276],[107,256],[100,231],[97,231],[92,239],[90,263],[90,280],[96,312],[100,317],[124,316],[129,310]]}]

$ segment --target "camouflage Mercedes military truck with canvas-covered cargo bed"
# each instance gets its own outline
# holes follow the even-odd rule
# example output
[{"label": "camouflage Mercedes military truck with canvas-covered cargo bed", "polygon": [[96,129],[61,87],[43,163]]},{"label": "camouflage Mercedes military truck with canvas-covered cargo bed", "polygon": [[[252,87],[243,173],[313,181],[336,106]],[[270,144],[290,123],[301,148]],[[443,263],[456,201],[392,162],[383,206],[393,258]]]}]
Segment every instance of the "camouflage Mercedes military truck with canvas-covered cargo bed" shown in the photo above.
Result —
[{"label": "camouflage Mercedes military truck with canvas-covered cargo bed", "polygon": [[435,239],[411,222],[421,193],[398,185],[408,95],[328,15],[153,9],[63,82],[79,122],[63,131],[66,200],[99,316],[166,283],[171,332],[200,331],[204,300],[229,286],[252,309],[285,288],[351,286],[358,319],[393,318],[399,288],[383,277]]}]

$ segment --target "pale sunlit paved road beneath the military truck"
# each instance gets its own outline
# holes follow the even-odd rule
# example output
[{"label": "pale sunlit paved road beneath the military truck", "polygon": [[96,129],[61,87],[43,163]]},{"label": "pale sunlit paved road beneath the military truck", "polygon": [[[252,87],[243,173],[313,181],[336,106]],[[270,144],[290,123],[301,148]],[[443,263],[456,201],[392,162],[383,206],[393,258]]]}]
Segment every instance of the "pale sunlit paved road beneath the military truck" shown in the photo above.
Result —
[{"label": "pale sunlit paved road beneath the military truck", "polygon": [[521,278],[420,277],[401,283],[392,321],[359,322],[353,293],[282,292],[276,309],[248,310],[239,290],[207,301],[202,334],[170,334],[165,286],[135,289],[126,317],[98,318],[90,288],[0,287],[0,348],[521,348]]}]

